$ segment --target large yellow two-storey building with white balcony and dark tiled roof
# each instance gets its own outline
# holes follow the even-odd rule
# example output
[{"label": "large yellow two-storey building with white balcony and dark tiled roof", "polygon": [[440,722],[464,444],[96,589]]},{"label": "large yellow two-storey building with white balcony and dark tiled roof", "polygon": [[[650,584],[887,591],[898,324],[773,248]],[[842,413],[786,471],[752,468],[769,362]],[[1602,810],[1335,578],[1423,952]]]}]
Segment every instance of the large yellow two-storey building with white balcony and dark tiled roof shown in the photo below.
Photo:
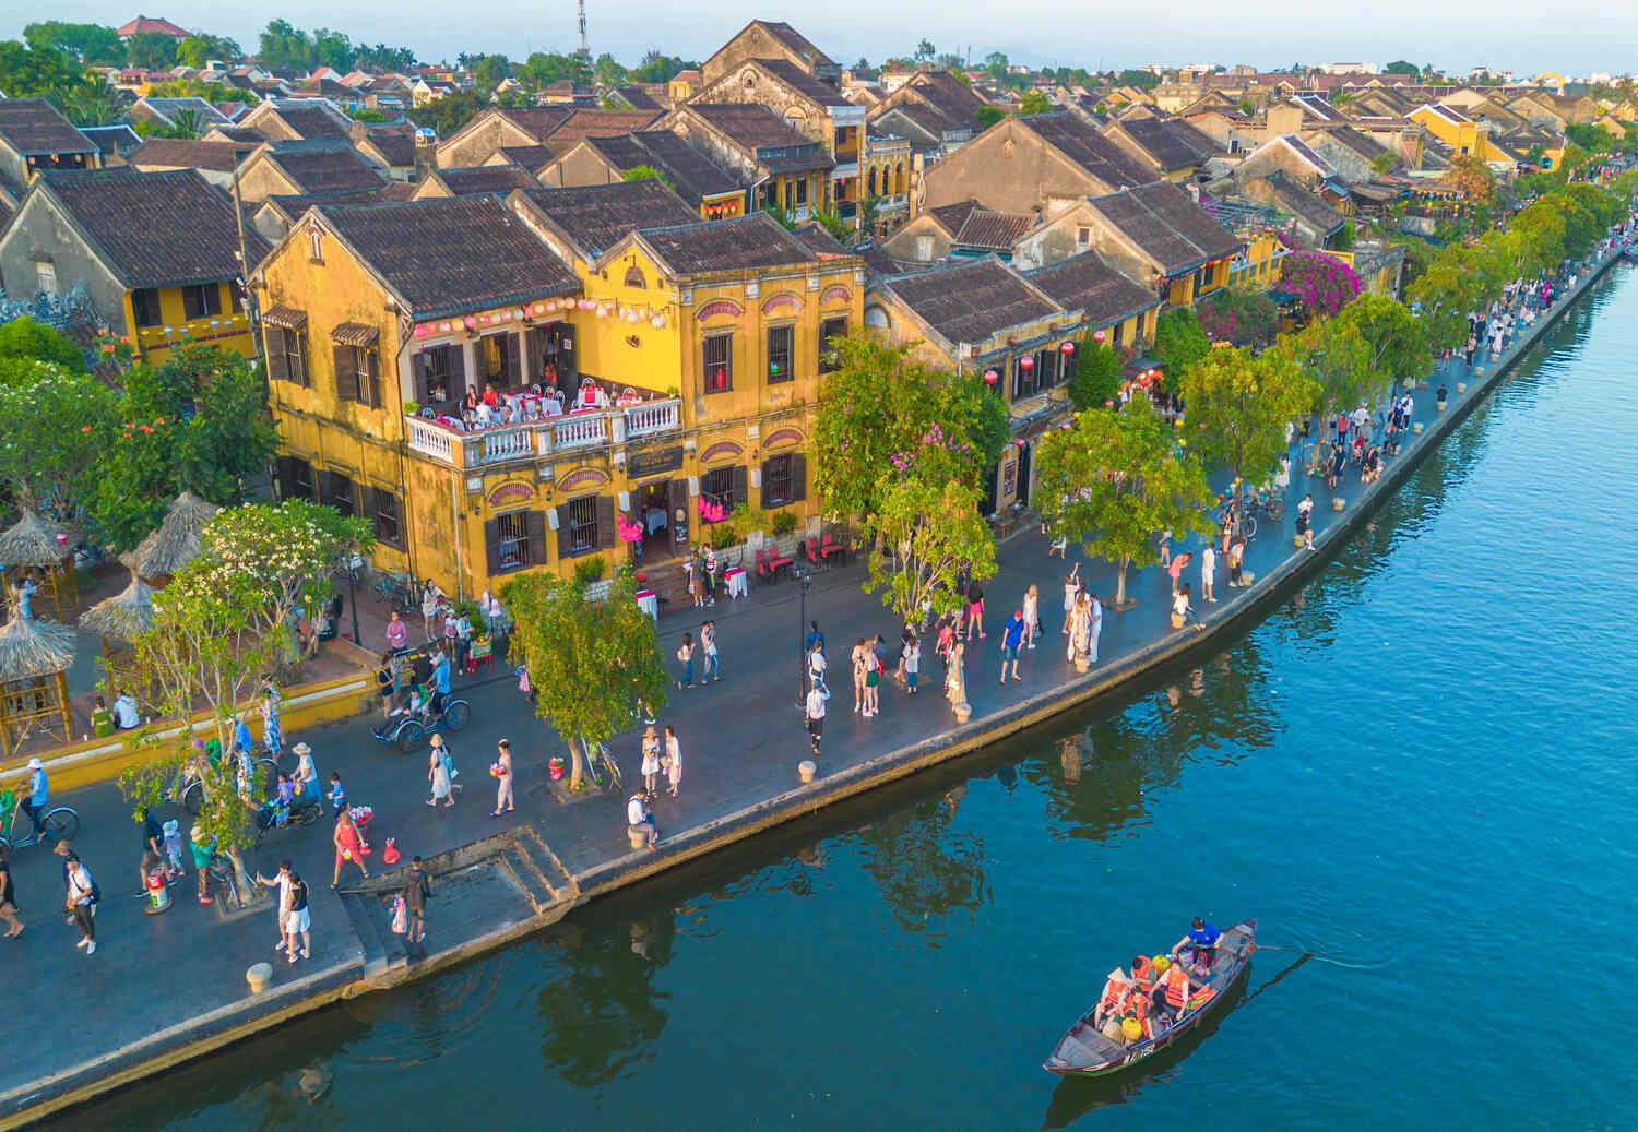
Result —
[{"label": "large yellow two-storey building with white balcony and dark tiled roof", "polygon": [[257,270],[282,490],[450,593],[626,562],[627,523],[675,588],[703,511],[814,509],[819,336],[857,324],[860,277],[652,180],[313,208]]}]

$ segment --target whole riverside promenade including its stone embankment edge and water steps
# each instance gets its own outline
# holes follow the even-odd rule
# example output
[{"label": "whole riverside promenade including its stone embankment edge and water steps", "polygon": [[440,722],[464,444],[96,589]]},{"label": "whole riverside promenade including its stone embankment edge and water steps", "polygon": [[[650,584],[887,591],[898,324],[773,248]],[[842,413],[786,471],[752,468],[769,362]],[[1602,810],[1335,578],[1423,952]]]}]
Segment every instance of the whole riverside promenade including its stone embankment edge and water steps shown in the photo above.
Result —
[{"label": "whole riverside promenade including its stone embankment edge and water steps", "polygon": [[[655,806],[663,837],[658,852],[629,847],[624,795],[568,804],[559,799],[547,781],[545,762],[562,752],[562,742],[532,719],[508,677],[457,683],[455,693],[473,704],[473,721],[452,740],[468,786],[454,809],[432,811],[423,804],[426,754],[401,755],[375,744],[369,737],[372,721],[288,736],[288,742],[305,739],[313,745],[323,778],[339,770],[349,798],[373,806],[370,835],[377,850],[391,835],[405,862],[410,854],[442,855],[432,862],[436,896],[429,903],[424,953],[405,952],[401,939],[388,931],[375,886],[357,885],[355,872],[342,878],[341,893],[328,890],[328,822],[275,832],[251,855],[251,863],[264,873],[280,857],[290,857],[313,886],[313,957],[288,965],[274,953],[270,904],[238,914],[200,906],[192,898],[192,876],[172,890],[177,903],[170,911],[143,914],[143,903],[131,898],[141,834],[111,783],[56,798],[80,811],[75,847],[103,890],[98,950],[93,957],[75,950],[77,934],[62,924],[59,858],[38,847],[13,854],[18,906],[28,931],[3,947],[15,971],[15,998],[28,1004],[28,1012],[18,1011],[16,1019],[38,1024],[13,1027],[13,1048],[0,1068],[0,1127],[38,1121],[339,998],[437,971],[550,924],[614,888],[994,742],[1117,690],[1160,663],[1220,647],[1222,637],[1253,624],[1294,583],[1322,568],[1327,554],[1397,488],[1522,352],[1550,333],[1609,264],[1602,260],[1584,272],[1577,288],[1528,328],[1499,362],[1481,362],[1482,374],[1453,364],[1435,375],[1432,387],[1440,382],[1450,387],[1443,413],[1435,411],[1432,388],[1419,388],[1414,419],[1423,424],[1423,432],[1407,437],[1378,483],[1361,488],[1350,470],[1350,480],[1332,493],[1319,480],[1310,485],[1296,469],[1286,519],[1261,524],[1248,549],[1247,567],[1256,575],[1255,585],[1230,590],[1219,573],[1219,603],[1204,604],[1197,596],[1201,629],[1173,631],[1166,623],[1166,577],[1158,568],[1133,572],[1129,588],[1138,604],[1125,613],[1106,609],[1101,662],[1076,675],[1057,632],[1063,577],[1076,555],[1071,550],[1068,562],[1048,560],[1034,531],[1009,539],[998,552],[1001,572],[986,586],[989,637],[981,644],[975,639],[968,649],[971,719],[955,722],[942,696],[942,665],[932,657],[924,659],[922,693],[907,698],[883,685],[881,714],[873,719],[852,713],[850,688],[835,680],[826,752],[812,783],[801,785],[796,777],[796,763],[808,752],[796,708],[798,642],[804,629],[796,588],[770,586],[739,603],[668,613],[660,621],[667,659],[683,631],[698,629],[698,614],[716,618],[724,677],[704,688],[673,690],[672,703],[660,713],[660,722],[672,724],[680,736],[685,775],[680,798],[662,796]],[[1456,393],[1458,382],[1466,383],[1464,393]],[[1309,490],[1317,501],[1317,554],[1294,549],[1291,539],[1296,501]],[[1345,501],[1340,513],[1330,509],[1333,495]],[[1197,562],[1196,557],[1184,573],[1196,595]],[[1081,562],[1079,573],[1097,593],[1112,593],[1107,565]],[[881,632],[896,641],[898,626],[878,598],[860,590],[862,578],[858,565],[821,572],[809,593],[808,616],[821,623],[832,665],[845,663],[862,636]],[[1032,583],[1040,588],[1045,634],[1040,649],[1024,654],[1024,680],[1002,686],[996,683],[998,631]],[[637,777],[637,734],[627,732],[613,744],[629,786]],[[485,767],[501,736],[513,742],[518,813],[496,821],[488,813],[493,793]],[[370,860],[378,862],[380,854]],[[372,873],[380,875],[377,863]],[[380,888],[393,891],[396,883],[387,880]],[[274,980],[265,991],[251,994],[244,971],[256,962],[272,962]]]}]

